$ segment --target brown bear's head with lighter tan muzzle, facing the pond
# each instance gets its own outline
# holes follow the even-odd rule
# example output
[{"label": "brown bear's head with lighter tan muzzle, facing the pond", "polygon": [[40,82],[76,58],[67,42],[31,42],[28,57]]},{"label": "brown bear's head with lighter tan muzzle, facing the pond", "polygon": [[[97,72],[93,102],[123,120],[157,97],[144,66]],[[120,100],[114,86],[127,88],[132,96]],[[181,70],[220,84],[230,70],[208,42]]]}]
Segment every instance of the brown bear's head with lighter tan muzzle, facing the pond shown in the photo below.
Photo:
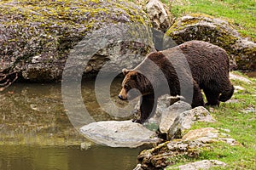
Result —
[{"label": "brown bear's head with lighter tan muzzle, facing the pond", "polygon": [[140,95],[151,93],[151,83],[142,73],[134,70],[122,70],[125,79],[122,82],[122,89],[119,93],[119,99],[135,99]]}]

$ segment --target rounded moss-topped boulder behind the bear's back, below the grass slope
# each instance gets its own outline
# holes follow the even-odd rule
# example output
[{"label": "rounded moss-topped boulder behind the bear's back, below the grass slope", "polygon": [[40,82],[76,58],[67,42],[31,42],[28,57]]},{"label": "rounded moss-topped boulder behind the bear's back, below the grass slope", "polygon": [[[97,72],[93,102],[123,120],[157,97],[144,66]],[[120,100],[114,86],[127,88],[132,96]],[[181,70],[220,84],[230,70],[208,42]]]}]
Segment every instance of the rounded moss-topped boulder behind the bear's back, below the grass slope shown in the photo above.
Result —
[{"label": "rounded moss-topped boulder behind the bear's back, below the grass slope", "polygon": [[256,69],[256,44],[240,37],[228,21],[206,14],[189,14],[178,19],[166,36],[172,37],[177,44],[190,40],[211,42],[230,54],[231,69]]}]

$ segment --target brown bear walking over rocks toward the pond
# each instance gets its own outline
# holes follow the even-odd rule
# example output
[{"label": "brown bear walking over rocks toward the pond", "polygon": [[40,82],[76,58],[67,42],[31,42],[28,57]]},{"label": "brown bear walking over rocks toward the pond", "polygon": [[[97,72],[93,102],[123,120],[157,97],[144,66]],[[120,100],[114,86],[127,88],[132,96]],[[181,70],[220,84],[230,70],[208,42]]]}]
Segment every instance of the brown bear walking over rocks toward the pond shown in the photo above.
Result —
[{"label": "brown bear walking over rocks toward the pond", "polygon": [[234,93],[229,71],[230,61],[223,48],[202,41],[184,42],[148,54],[132,70],[123,69],[119,99],[141,96],[141,117],[135,121],[140,123],[154,114],[157,99],[163,94],[181,95],[194,108],[204,105],[202,89],[207,105],[219,105]]}]

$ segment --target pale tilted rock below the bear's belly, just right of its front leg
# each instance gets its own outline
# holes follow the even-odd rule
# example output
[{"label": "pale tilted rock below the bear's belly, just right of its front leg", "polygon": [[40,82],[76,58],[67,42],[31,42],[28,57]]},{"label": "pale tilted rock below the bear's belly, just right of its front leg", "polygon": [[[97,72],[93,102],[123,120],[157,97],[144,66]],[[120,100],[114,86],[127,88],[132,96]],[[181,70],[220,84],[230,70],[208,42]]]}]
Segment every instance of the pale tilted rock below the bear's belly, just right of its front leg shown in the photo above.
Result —
[{"label": "pale tilted rock below the bear's belly, just right of its front leg", "polygon": [[183,101],[177,101],[173,105],[169,106],[166,110],[162,111],[160,133],[168,133],[168,130],[174,123],[177,116],[183,113],[183,111],[188,111],[189,109],[191,109],[191,105]]}]

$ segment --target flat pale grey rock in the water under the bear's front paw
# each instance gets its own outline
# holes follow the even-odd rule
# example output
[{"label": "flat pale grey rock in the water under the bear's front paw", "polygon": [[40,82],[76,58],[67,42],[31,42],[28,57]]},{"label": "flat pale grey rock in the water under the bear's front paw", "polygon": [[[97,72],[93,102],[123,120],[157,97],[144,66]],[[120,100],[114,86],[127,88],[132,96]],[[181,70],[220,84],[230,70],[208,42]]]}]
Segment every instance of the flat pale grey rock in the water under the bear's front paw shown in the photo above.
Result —
[{"label": "flat pale grey rock in the water under the bear's front paw", "polygon": [[155,144],[161,139],[142,124],[131,121],[92,122],[80,128],[80,132],[96,144],[111,147],[136,148],[143,144]]}]

